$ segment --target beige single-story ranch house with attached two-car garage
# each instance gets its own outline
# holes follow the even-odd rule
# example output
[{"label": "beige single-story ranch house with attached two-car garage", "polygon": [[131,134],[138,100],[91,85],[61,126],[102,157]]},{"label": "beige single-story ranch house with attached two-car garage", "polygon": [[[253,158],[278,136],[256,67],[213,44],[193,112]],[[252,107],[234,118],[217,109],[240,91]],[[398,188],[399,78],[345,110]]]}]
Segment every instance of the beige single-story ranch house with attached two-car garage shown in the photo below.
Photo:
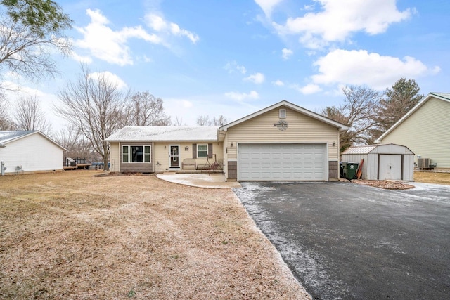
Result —
[{"label": "beige single-story ranch house with attached two-car garage", "polygon": [[223,171],[229,181],[339,178],[348,127],[281,101],[223,126],[127,126],[105,139],[110,170]]}]

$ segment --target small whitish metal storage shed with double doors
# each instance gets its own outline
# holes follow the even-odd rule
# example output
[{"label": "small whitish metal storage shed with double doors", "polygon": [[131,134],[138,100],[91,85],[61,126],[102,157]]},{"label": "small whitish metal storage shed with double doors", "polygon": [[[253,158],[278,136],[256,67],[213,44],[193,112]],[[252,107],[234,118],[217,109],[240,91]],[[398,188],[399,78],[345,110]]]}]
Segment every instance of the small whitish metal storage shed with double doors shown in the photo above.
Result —
[{"label": "small whitish metal storage shed with double doors", "polygon": [[414,153],[396,144],[350,147],[342,153],[342,162],[360,163],[361,179],[414,181]]}]

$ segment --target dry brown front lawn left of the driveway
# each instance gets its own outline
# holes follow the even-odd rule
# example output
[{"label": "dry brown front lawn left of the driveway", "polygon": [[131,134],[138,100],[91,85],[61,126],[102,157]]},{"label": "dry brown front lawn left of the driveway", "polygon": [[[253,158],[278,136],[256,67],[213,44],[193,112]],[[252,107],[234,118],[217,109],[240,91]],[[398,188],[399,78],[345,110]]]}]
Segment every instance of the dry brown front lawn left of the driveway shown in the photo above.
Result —
[{"label": "dry brown front lawn left of the driveway", "polygon": [[229,189],[0,177],[1,299],[309,299]]}]

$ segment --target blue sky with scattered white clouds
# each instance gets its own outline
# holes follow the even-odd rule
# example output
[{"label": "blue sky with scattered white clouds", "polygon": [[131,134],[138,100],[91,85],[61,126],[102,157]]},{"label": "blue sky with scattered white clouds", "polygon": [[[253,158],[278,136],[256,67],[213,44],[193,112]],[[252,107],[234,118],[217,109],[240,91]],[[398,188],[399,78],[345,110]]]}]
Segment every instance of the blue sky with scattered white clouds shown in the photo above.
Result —
[{"label": "blue sky with scattered white clouds", "polygon": [[450,91],[446,0],[57,2],[75,21],[74,53],[56,58],[55,79],[24,84],[46,107],[80,62],[162,98],[186,125],[281,100],[319,112],[343,102],[342,86],[384,91],[401,77],[425,95]]}]

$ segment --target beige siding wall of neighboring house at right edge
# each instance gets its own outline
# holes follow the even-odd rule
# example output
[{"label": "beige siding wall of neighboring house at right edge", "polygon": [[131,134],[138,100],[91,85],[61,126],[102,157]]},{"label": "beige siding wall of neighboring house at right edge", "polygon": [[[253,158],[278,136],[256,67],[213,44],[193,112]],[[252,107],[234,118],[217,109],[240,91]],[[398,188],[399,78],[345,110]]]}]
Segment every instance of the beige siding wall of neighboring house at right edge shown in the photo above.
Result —
[{"label": "beige siding wall of neighboring house at right edge", "polygon": [[450,103],[430,98],[385,136],[381,143],[405,145],[416,155],[437,163],[437,168],[450,168],[449,120]]}]

